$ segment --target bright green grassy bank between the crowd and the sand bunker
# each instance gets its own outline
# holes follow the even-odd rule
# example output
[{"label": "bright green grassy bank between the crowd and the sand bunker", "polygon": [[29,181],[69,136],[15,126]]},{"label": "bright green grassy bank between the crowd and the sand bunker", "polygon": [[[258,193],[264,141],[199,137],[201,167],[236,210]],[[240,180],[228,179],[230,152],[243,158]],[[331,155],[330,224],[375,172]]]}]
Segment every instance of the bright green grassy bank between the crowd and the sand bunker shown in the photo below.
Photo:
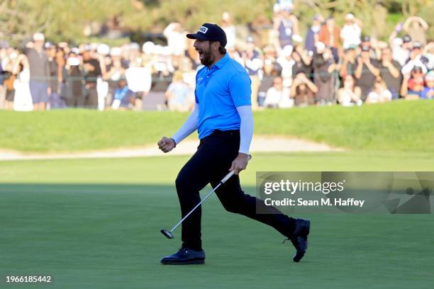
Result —
[{"label": "bright green grassy bank between the crowd and the sand bunker", "polygon": [[[255,133],[289,135],[337,147],[433,152],[434,101],[355,108],[310,107],[255,113]],[[187,114],[170,112],[0,111],[0,147],[68,152],[154,144]]]}]

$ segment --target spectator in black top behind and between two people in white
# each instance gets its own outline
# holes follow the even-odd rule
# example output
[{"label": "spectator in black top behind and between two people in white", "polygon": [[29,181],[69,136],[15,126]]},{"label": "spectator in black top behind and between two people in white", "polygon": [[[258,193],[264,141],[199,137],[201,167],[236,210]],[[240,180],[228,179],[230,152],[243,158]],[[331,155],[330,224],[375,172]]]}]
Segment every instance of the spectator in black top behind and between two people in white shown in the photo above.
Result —
[{"label": "spectator in black top behind and between two people in white", "polygon": [[365,101],[369,92],[372,91],[374,81],[380,74],[378,61],[372,59],[369,55],[369,47],[362,46],[362,52],[357,57],[357,67],[355,70],[357,86],[360,86],[360,89],[362,89],[362,101]]}]

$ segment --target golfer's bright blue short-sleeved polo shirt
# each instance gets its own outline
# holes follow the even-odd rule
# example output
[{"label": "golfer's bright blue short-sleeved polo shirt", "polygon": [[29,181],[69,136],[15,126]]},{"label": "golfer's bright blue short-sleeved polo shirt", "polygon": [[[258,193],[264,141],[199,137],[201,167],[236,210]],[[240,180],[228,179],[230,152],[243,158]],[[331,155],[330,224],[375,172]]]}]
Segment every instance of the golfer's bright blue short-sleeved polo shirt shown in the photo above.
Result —
[{"label": "golfer's bright blue short-sleeved polo shirt", "polygon": [[199,139],[214,130],[239,130],[238,106],[251,106],[250,77],[245,68],[226,53],[211,68],[196,74],[196,103],[199,103]]}]

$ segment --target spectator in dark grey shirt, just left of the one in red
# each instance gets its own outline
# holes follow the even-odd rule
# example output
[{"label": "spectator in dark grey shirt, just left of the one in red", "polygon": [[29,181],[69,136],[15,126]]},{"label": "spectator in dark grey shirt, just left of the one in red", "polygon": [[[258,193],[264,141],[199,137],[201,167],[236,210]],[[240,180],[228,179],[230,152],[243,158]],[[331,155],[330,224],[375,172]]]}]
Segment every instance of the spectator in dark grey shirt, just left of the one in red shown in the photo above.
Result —
[{"label": "spectator in dark grey shirt, just left of the one in red", "polygon": [[380,76],[391,92],[392,98],[399,98],[402,82],[401,65],[392,59],[390,47],[383,48],[381,54]]}]

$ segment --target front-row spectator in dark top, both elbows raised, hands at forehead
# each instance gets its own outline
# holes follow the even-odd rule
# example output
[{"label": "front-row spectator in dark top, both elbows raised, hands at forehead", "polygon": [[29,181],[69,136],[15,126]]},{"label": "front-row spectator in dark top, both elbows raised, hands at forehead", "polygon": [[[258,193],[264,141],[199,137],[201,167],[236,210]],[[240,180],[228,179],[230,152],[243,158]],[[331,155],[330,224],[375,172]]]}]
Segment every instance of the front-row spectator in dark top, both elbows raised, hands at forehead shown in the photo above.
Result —
[{"label": "front-row spectator in dark top, both elbows raised, hands at forehead", "polygon": [[292,82],[290,96],[294,98],[295,106],[311,106],[315,104],[317,91],[318,88],[306,74],[299,72]]}]

